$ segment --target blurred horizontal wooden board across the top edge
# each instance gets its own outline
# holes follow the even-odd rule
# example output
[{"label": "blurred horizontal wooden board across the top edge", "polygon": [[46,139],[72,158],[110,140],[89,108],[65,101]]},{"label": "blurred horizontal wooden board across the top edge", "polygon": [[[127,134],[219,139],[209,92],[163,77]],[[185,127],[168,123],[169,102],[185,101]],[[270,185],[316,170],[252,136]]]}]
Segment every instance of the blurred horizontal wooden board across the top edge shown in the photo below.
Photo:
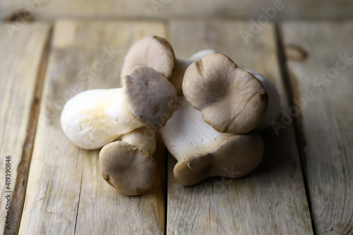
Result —
[{"label": "blurred horizontal wooden board across the top edge", "polygon": [[[263,22],[267,16],[268,20],[353,18],[351,0],[106,0],[104,4],[96,0],[12,0],[1,1],[0,5],[0,18],[6,18],[17,10],[26,10],[28,17],[34,13],[38,20],[56,20],[63,17],[86,19],[212,17],[258,21],[258,17],[261,16],[260,20]],[[277,6],[277,10],[267,10],[274,6]]]}]

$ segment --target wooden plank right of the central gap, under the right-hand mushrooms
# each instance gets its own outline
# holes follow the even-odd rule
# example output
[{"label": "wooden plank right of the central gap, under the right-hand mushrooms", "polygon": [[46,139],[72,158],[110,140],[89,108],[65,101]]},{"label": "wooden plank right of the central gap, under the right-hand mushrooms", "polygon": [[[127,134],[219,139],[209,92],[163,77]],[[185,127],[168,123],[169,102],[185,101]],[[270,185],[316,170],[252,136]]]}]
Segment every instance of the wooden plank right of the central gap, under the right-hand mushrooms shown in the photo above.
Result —
[{"label": "wooden plank right of the central gap, under the right-hand mushrooms", "polygon": [[[170,39],[179,58],[212,48],[241,68],[263,73],[287,108],[274,26],[268,23],[246,44],[239,32],[249,27],[234,21],[177,21],[170,24]],[[174,179],[176,160],[169,157],[167,234],[312,234],[293,126],[278,136],[273,129],[261,135],[263,162],[241,179],[219,177],[184,187]]]}]

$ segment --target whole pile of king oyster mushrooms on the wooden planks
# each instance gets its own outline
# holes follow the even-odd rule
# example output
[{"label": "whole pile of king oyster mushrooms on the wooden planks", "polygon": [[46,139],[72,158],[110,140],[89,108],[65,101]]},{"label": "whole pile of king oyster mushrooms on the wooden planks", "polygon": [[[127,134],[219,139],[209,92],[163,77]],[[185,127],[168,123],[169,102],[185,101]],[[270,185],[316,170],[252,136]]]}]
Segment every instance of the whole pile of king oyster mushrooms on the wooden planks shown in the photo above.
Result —
[{"label": "whole pile of king oyster mushrooms on the wooden planks", "polygon": [[121,86],[68,100],[61,127],[78,147],[102,147],[102,176],[125,195],[153,186],[155,132],[178,161],[174,177],[191,186],[255,169],[263,157],[256,131],[268,128],[280,112],[268,78],[210,49],[176,59],[169,42],[157,36],[143,37],[129,49]]}]

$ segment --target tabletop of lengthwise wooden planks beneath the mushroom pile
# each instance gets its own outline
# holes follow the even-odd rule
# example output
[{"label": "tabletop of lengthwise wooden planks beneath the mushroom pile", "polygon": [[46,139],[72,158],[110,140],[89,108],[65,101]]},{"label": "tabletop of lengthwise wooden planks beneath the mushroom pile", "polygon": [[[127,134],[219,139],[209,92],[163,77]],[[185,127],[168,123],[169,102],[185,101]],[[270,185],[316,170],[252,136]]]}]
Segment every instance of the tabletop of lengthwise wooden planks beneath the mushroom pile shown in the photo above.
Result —
[{"label": "tabletop of lengthwise wooden planks beneath the mushroom pile", "polygon": [[[251,23],[58,20],[11,36],[1,23],[0,233],[352,234],[353,23],[267,23],[248,39],[244,32]],[[64,103],[118,87],[124,55],[145,35],[166,37],[181,59],[215,49],[275,83],[282,114],[261,133],[265,155],[255,171],[184,187],[159,143],[154,188],[128,197],[102,179],[99,150],[66,138]]]}]

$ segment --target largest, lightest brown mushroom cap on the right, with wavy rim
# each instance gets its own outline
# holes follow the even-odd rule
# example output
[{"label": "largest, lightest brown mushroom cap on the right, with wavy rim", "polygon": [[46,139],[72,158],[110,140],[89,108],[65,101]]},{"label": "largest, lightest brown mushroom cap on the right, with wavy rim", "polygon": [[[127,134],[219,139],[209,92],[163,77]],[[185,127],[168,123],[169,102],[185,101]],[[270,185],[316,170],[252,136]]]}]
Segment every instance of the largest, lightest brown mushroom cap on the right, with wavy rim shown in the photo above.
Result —
[{"label": "largest, lightest brown mushroom cap on the right, with wavy rim", "polygon": [[221,133],[247,133],[256,128],[268,108],[268,94],[255,76],[224,54],[203,56],[186,70],[186,100]]}]

